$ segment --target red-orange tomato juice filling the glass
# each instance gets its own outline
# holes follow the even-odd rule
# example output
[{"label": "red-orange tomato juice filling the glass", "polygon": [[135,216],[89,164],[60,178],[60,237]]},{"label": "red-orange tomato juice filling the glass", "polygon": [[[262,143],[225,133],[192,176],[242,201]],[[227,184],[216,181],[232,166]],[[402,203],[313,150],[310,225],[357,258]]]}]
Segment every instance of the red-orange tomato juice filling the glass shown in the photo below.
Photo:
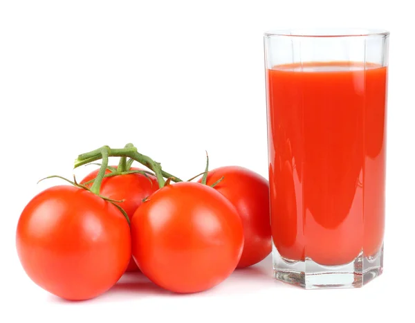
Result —
[{"label": "red-orange tomato juice filling the glass", "polygon": [[385,228],[387,67],[289,64],[266,74],[279,254],[322,265],[375,255]]}]

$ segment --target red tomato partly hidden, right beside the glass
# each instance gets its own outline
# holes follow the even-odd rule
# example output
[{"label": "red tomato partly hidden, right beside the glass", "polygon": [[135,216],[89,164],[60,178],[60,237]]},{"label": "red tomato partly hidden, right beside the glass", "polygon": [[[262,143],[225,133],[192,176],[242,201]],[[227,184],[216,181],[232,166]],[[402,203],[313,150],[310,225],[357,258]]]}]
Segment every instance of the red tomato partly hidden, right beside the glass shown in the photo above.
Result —
[{"label": "red tomato partly hidden, right beside the glass", "polygon": [[257,264],[271,252],[270,202],[268,181],[244,167],[227,166],[208,173],[212,185],[236,208],[243,223],[245,243],[238,268]]}]

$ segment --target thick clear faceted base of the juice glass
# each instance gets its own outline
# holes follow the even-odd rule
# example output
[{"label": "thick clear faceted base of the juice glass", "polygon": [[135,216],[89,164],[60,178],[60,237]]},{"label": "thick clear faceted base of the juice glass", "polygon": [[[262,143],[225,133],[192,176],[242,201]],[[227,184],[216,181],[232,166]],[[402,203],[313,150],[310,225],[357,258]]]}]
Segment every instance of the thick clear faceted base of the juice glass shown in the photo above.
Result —
[{"label": "thick clear faceted base of the juice glass", "polygon": [[311,259],[284,259],[273,245],[273,266],[275,279],[302,288],[357,288],[382,274],[383,246],[374,257],[360,252],[349,264],[322,266]]}]

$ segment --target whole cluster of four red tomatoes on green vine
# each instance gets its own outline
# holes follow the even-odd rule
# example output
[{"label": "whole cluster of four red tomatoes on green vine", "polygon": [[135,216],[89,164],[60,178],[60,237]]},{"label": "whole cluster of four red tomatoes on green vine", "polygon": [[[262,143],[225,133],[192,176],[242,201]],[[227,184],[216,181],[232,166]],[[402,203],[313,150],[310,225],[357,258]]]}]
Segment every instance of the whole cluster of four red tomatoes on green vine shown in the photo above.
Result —
[{"label": "whole cluster of four red tomatoes on green vine", "polygon": [[[107,165],[107,153],[89,155],[85,163],[102,158],[100,169],[26,205],[16,243],[33,282],[64,299],[91,299],[141,270],[162,288],[195,293],[270,253],[265,178],[232,166],[207,167],[197,182],[165,181],[160,164],[122,151],[107,151],[121,156],[118,168]],[[131,167],[127,156],[154,173]]]}]

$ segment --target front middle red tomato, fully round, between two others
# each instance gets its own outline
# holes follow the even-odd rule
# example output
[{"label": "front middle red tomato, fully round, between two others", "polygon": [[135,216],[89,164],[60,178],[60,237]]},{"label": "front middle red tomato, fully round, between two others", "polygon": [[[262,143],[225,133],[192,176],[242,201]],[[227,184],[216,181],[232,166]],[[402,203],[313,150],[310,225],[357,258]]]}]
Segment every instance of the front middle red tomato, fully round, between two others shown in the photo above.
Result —
[{"label": "front middle red tomato, fully round, between two others", "polygon": [[196,293],[236,268],[243,228],[234,206],[199,183],[167,185],[131,221],[133,257],[152,282],[176,293]]}]

